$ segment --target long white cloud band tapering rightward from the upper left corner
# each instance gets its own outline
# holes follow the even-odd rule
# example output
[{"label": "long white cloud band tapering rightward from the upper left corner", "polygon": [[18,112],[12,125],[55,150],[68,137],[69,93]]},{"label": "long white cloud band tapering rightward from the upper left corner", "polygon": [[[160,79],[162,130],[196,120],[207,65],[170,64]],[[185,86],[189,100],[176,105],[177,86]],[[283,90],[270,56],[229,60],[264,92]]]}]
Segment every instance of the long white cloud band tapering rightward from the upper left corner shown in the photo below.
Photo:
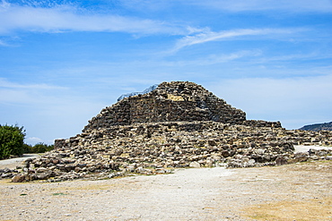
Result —
[{"label": "long white cloud band tapering rightward from the upper left corner", "polygon": [[188,30],[164,21],[153,21],[116,14],[80,11],[72,6],[33,7],[30,5],[0,4],[0,34],[13,30],[61,32],[107,31],[134,34],[185,34]]}]

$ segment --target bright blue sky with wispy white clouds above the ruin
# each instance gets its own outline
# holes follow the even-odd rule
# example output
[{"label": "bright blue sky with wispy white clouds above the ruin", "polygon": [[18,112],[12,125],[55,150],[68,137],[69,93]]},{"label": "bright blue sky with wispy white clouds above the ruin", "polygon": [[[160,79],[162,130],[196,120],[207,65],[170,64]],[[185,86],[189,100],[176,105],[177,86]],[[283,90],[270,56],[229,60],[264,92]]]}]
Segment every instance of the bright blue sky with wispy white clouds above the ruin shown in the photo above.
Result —
[{"label": "bright blue sky with wispy white clouds above the ruin", "polygon": [[52,143],[162,81],[287,129],[330,122],[331,21],[330,0],[0,0],[0,124]]}]

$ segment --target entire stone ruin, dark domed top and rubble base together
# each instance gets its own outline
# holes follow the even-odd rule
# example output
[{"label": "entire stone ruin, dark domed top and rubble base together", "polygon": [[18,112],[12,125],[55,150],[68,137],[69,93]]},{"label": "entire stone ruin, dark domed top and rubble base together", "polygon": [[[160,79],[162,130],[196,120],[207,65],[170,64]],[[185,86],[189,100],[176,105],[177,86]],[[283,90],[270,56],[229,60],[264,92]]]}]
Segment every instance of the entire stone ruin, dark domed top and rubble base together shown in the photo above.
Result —
[{"label": "entire stone ruin, dark domed top and rubble base together", "polygon": [[280,122],[247,120],[245,112],[196,83],[163,82],[146,94],[126,96],[102,109],[81,134],[56,140],[54,150],[26,160],[12,176],[13,182],[57,182],[164,174],[177,167],[332,159],[330,150],[294,154],[296,144],[328,146],[332,132],[289,131]]}]

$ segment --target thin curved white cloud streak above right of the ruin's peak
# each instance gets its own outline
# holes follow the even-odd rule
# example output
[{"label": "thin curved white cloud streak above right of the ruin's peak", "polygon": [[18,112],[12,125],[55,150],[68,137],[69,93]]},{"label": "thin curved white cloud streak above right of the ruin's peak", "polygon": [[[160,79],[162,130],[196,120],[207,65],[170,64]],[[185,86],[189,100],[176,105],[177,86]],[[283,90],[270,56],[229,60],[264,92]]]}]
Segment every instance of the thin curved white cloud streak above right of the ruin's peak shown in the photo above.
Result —
[{"label": "thin curved white cloud streak above right of the ruin's peak", "polygon": [[210,41],[217,41],[223,39],[231,39],[238,37],[248,37],[248,36],[267,36],[276,34],[290,34],[299,30],[291,29],[242,29],[242,30],[223,30],[219,32],[214,32],[211,30],[205,30],[204,32],[198,33],[196,35],[186,36],[185,38],[179,39],[176,46],[171,50],[176,52],[182,47],[193,46],[197,44],[203,44]]}]

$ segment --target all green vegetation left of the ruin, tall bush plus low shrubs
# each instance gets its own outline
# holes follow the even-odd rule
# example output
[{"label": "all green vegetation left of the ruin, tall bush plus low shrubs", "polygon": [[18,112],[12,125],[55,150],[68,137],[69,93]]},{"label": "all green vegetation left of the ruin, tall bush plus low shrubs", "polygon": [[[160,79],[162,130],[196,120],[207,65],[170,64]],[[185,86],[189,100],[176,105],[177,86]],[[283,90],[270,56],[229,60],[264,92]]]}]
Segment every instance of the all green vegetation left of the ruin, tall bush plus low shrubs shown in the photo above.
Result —
[{"label": "all green vegetation left of the ruin, tall bush plus low shrubs", "polygon": [[45,153],[54,145],[37,143],[34,146],[24,143],[25,130],[17,125],[0,124],[0,159],[22,156],[24,153]]}]

